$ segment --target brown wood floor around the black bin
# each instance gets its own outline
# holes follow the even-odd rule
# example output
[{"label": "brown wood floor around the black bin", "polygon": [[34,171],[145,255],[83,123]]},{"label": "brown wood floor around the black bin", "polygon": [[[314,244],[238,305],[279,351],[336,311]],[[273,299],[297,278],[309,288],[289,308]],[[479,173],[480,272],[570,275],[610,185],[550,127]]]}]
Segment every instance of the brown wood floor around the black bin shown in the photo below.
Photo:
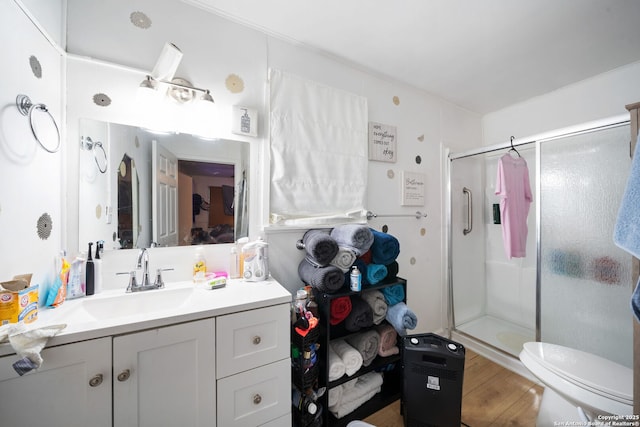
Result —
[{"label": "brown wood floor around the black bin", "polygon": [[[534,427],[543,388],[467,349],[462,423],[469,427]],[[364,419],[376,427],[403,427],[400,401]]]}]

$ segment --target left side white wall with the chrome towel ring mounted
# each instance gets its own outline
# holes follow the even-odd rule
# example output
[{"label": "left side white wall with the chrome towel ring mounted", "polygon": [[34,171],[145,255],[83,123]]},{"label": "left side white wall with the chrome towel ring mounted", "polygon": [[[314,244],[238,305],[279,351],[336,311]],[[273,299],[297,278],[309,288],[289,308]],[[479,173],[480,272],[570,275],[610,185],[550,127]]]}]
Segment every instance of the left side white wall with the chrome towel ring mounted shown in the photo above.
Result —
[{"label": "left side white wall with the chrome towel ring mounted", "polygon": [[[13,1],[0,2],[0,40],[0,281],[33,273],[32,283],[42,286],[42,300],[56,274],[54,260],[67,228],[62,208],[65,144],[54,154],[40,148],[15,102],[18,94],[25,94],[34,103],[46,104],[64,141],[63,61]],[[37,58],[41,77],[32,72],[30,57]],[[41,111],[34,112],[34,120],[52,133]],[[45,143],[55,146],[55,141]],[[42,240],[37,226],[45,213],[52,220],[51,234]]]}]

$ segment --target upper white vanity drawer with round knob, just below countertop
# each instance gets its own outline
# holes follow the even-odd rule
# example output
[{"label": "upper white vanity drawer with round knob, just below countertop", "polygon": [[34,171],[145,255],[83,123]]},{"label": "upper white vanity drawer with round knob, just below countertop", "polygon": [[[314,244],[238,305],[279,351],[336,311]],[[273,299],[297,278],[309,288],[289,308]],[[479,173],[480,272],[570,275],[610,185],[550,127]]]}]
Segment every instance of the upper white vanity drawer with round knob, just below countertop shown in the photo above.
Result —
[{"label": "upper white vanity drawer with round knob, just below countertop", "polygon": [[289,322],[289,304],[218,317],[217,377],[288,359]]}]

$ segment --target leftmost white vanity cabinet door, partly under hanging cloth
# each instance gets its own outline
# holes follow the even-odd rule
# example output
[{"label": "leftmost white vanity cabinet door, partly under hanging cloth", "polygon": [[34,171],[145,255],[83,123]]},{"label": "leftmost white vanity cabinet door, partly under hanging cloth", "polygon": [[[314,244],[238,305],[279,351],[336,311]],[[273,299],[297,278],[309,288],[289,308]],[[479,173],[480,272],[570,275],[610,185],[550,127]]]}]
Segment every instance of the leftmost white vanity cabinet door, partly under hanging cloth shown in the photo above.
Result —
[{"label": "leftmost white vanity cabinet door, partly under hanging cloth", "polygon": [[46,348],[37,372],[19,376],[0,358],[0,425],[111,426],[111,338]]}]

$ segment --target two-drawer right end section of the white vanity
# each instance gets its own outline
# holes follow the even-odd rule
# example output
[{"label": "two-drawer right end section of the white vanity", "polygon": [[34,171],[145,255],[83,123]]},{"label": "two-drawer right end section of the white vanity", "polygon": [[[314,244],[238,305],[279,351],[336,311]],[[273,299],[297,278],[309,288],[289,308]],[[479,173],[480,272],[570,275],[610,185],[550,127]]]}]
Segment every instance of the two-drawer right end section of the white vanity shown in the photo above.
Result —
[{"label": "two-drawer right end section of the white vanity", "polygon": [[289,304],[218,317],[218,426],[291,425]]}]

